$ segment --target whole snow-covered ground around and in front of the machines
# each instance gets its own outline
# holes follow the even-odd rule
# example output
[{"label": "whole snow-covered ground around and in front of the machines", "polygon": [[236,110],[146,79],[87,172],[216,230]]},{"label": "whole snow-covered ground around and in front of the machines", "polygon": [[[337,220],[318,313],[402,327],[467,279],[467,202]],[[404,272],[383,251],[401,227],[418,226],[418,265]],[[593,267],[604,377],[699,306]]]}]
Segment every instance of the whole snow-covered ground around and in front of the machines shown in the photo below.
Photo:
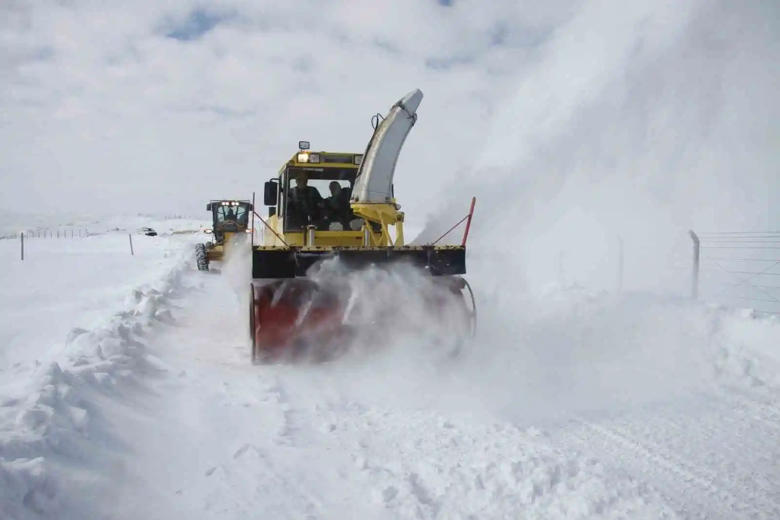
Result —
[{"label": "whole snow-covered ground around and in front of the machines", "polygon": [[472,279],[462,358],[258,367],[245,262],[104,228],[0,240],[4,520],[780,518],[780,322]]}]

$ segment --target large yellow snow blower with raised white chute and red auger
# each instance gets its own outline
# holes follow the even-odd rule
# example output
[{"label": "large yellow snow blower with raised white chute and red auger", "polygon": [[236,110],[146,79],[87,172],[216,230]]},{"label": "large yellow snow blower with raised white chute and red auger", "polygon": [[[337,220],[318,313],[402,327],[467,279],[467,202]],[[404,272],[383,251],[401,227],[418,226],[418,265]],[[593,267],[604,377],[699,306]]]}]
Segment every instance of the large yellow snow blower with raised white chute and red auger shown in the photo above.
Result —
[{"label": "large yellow snow blower with raised white chute and red auger", "polygon": [[[461,327],[465,337],[473,335],[474,297],[461,275],[466,273],[466,237],[474,199],[469,213],[456,224],[467,221],[461,244],[435,245],[438,240],[420,246],[404,244],[404,214],[395,201],[393,176],[422,98],[423,93],[414,90],[395,103],[381,122],[381,115],[375,116],[374,134],[362,154],[310,151],[310,144],[300,141],[299,151],[265,183],[268,219],[252,214],[264,223],[260,244],[254,243],[252,234],[253,363],[301,358],[321,362],[343,351],[356,337],[373,347],[367,329],[373,329],[378,340],[392,329],[408,332],[397,313],[408,312],[398,299],[403,294],[388,294],[381,281],[359,291],[344,290],[343,280],[336,280],[339,276],[323,270],[325,264],[339,265],[348,276],[389,265],[410,266],[424,274],[420,279],[426,285],[425,290],[413,288],[420,305],[417,315],[438,316],[446,329]],[[381,312],[363,319],[356,330],[351,316],[378,305]]]}]

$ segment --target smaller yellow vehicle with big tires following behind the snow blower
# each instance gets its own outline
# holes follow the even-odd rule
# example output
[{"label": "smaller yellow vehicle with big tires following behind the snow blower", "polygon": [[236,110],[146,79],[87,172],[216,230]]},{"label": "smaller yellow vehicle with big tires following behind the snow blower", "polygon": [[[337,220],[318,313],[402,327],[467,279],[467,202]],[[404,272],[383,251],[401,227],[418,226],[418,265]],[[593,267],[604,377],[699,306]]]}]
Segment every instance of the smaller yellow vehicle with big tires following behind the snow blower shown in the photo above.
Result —
[{"label": "smaller yellow vehicle with big tires following behind the snow blower", "polygon": [[225,258],[225,248],[235,244],[236,240],[245,240],[250,213],[254,206],[250,201],[222,200],[211,201],[206,205],[211,212],[211,230],[214,241],[195,244],[195,259],[200,271],[208,271],[211,262],[221,262]]}]

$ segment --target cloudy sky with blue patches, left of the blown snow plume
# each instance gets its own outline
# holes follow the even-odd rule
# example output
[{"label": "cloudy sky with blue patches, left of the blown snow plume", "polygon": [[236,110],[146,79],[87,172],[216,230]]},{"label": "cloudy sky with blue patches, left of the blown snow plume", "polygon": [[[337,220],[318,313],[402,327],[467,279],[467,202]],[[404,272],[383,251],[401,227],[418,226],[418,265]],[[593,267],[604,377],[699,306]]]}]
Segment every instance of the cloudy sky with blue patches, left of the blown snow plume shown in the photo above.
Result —
[{"label": "cloudy sky with blue patches, left of the blown snow plume", "polygon": [[[248,197],[300,140],[362,152],[424,102],[399,164],[424,211],[475,157],[571,2],[0,2],[2,202],[204,210]],[[410,215],[411,216],[411,215]]]}]

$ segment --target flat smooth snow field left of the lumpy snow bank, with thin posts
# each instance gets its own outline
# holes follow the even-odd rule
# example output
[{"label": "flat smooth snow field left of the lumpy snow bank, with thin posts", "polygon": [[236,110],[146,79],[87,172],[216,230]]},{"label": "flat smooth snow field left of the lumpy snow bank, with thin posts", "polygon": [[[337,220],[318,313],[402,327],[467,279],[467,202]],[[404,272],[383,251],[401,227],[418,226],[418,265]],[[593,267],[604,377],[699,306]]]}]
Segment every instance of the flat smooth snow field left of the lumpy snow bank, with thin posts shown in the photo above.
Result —
[{"label": "flat smooth snow field left of the lumpy snow bank, with thin posts", "polygon": [[167,276],[182,248],[192,251],[182,237],[133,237],[134,255],[121,233],[41,238],[26,241],[22,261],[18,242],[0,241],[0,389],[51,362],[73,327],[105,325],[127,294]]}]

